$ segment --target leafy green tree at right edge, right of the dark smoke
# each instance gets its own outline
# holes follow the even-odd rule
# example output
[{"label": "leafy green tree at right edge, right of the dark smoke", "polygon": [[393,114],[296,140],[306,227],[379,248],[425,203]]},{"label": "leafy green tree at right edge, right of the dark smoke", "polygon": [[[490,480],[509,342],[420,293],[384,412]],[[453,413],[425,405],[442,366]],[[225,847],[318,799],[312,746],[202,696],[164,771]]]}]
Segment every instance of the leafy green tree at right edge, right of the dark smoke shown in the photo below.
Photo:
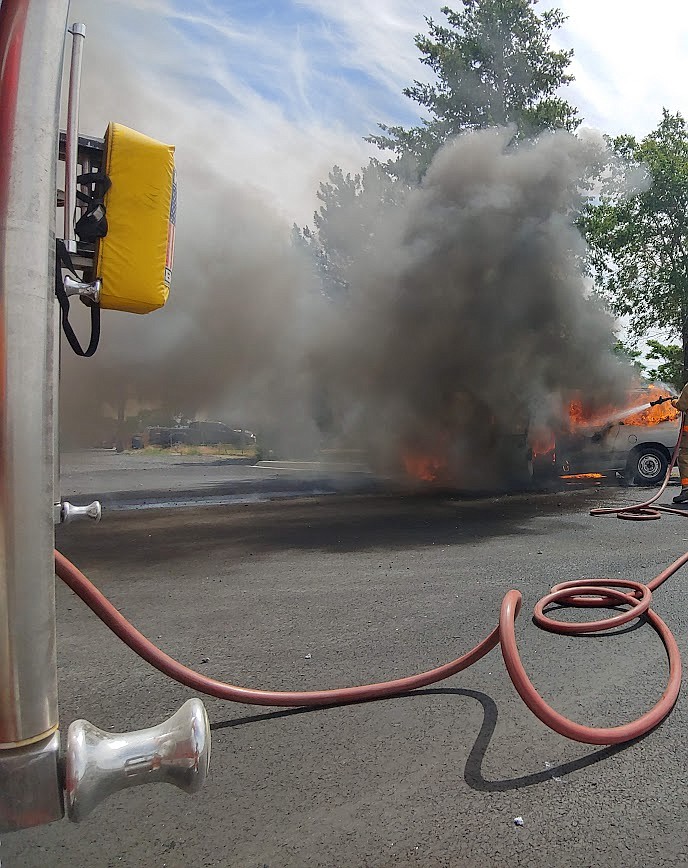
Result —
[{"label": "leafy green tree at right edge, right of the dark smoke", "polygon": [[618,167],[590,204],[581,226],[590,247],[597,292],[642,337],[660,327],[680,340],[681,375],[688,381],[688,129],[680,113],[662,120],[642,141],[610,140],[635,170],[635,189],[619,184]]}]

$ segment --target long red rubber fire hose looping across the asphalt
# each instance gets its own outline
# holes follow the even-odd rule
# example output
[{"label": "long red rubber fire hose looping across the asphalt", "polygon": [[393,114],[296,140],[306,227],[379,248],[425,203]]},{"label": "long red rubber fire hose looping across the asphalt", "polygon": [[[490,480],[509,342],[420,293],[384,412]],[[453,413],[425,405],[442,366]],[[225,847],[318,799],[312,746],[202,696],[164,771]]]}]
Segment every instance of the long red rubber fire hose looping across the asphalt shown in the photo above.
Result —
[{"label": "long red rubber fire hose looping across the asphalt", "polygon": [[[659,518],[659,510],[685,515],[682,510],[650,505],[666,489],[671,470],[676,461],[681,437],[676,444],[666,478],[657,494],[637,506],[621,509],[596,509],[592,515],[616,513],[619,518]],[[656,514],[654,514],[656,513]],[[499,613],[499,624],[479,642],[475,648],[462,657],[417,675],[398,678],[394,681],[383,681],[377,684],[364,684],[358,687],[341,687],[332,690],[312,691],[271,691],[254,690],[247,687],[237,687],[208,678],[182,665],[157,648],[121,615],[112,603],[77,569],[64,555],[55,552],[56,574],[92,609],[93,612],[118,636],[132,651],[154,666],[164,675],[197,690],[200,693],[226,699],[231,702],[243,702],[249,705],[282,706],[282,707],[317,707],[325,705],[342,705],[350,702],[362,702],[371,699],[381,699],[387,696],[399,696],[420,687],[435,684],[476,663],[495,645],[501,647],[504,663],[509,676],[533,714],[546,726],[560,735],[574,741],[586,744],[621,744],[639,738],[649,732],[669,714],[673,708],[681,686],[681,656],[678,645],[671,630],[662,619],[650,608],[652,592],[688,562],[688,552],[673,564],[659,573],[647,584],[623,579],[579,579],[573,582],[563,582],[552,588],[535,606],[533,620],[542,629],[554,633],[580,634],[594,633],[619,627],[634,618],[645,616],[650,626],[662,640],[669,661],[669,680],[666,689],[657,704],[650,711],[631,723],[615,727],[592,727],[575,723],[551,708],[535,690],[526,674],[516,645],[514,629],[516,617],[521,609],[522,597],[519,591],[507,591],[502,600]],[[625,589],[627,591],[624,592]],[[563,606],[609,608],[610,606],[627,605],[630,608],[619,614],[598,621],[586,623],[564,623],[550,618],[545,609],[558,603]]]}]

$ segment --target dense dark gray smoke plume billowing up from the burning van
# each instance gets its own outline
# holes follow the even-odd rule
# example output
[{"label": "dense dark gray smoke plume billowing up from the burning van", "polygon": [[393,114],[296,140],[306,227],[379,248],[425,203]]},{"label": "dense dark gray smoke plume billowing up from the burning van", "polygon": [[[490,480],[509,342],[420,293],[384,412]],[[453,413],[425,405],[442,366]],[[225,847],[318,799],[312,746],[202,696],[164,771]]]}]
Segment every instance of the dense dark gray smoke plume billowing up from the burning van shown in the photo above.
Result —
[{"label": "dense dark gray smoke plume billowing up from the burning van", "polygon": [[425,452],[457,480],[499,473],[505,439],[561,422],[573,393],[594,405],[629,385],[574,223],[601,141],[511,138],[471,133],[437,154],[375,226],[318,351],[340,423],[392,465]]}]

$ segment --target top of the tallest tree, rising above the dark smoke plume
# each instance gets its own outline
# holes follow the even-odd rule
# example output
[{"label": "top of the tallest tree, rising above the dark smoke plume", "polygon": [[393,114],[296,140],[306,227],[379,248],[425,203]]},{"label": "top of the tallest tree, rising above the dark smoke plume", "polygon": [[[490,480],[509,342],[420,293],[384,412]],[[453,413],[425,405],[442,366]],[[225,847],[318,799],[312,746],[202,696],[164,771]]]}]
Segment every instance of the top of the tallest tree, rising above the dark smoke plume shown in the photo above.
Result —
[{"label": "top of the tallest tree, rising above the dark smoke plume", "polygon": [[426,18],[429,34],[416,36],[421,63],[435,84],[415,81],[404,94],[430,114],[421,126],[380,124],[369,136],[402,158],[392,164],[406,174],[408,157],[420,175],[451,135],[513,123],[520,137],[547,129],[574,130],[577,110],[557,96],[573,80],[566,72],[572,50],[554,51],[552,33],[566,20],[558,9],[537,15],[537,0],[462,0],[463,10],[442,8],[448,26]]}]

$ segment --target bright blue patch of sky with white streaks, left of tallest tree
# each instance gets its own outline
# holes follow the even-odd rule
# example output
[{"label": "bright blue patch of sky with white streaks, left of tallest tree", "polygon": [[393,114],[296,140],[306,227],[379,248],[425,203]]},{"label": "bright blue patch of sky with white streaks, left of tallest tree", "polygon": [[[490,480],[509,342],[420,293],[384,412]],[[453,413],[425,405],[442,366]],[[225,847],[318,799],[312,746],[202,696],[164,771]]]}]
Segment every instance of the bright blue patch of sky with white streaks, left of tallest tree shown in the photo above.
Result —
[{"label": "bright blue patch of sky with white streaks, left of tallest tree", "polygon": [[[374,127],[390,114],[401,123],[417,122],[394,71],[362,55],[346,23],[317,4],[216,0],[197,7],[194,14],[176,0],[173,26],[180,35],[203,43],[226,71],[240,71],[243,82],[279,105],[290,122],[315,115],[356,129]],[[422,27],[422,15],[415,18]],[[197,84],[200,94],[219,95],[211,69]],[[224,96],[232,101],[231,92]]]}]

